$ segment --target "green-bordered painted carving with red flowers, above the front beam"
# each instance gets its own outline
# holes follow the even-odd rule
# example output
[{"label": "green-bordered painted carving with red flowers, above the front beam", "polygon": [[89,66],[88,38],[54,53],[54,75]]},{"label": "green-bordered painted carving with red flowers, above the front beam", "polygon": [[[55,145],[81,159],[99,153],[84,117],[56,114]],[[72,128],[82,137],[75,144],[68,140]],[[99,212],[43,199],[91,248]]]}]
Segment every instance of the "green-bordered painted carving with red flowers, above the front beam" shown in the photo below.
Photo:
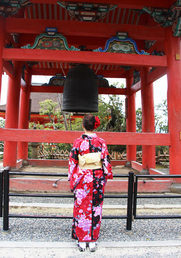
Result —
[{"label": "green-bordered painted carving with red flowers, above the front beam", "polygon": [[67,44],[67,39],[61,34],[55,34],[55,35],[49,36],[47,33],[42,33],[39,36],[37,36],[32,47],[30,44],[27,44],[26,46],[21,48],[76,50],[76,51],[80,50],[78,48],[75,48],[74,46],[71,46],[71,48],[69,48]]}]

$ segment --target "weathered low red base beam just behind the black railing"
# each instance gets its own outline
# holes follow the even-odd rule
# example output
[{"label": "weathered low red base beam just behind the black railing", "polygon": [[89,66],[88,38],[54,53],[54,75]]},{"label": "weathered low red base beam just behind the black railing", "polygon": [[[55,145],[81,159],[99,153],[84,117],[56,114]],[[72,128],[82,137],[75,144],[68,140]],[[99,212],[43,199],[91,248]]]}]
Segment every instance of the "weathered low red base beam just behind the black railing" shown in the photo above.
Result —
[{"label": "weathered low red base beam just behind the black railing", "polygon": [[[46,180],[45,180],[46,179]],[[10,191],[63,191],[70,192],[69,182],[66,179],[59,180],[57,187],[53,186],[53,183],[58,179],[51,179],[50,182],[45,177],[42,178],[10,178]],[[170,192],[170,186],[172,182],[170,180],[147,180],[143,183],[143,180],[138,180],[138,192]],[[105,192],[128,192],[128,180],[109,180],[105,187]]]}]

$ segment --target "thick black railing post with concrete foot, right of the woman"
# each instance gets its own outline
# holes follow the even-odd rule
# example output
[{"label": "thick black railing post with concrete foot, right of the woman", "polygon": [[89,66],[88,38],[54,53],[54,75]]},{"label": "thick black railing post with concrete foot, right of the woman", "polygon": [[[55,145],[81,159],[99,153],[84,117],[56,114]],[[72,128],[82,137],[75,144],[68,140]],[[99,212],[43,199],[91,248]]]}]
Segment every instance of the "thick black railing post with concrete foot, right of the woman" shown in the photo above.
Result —
[{"label": "thick black railing post with concrete foot, right of the woman", "polygon": [[134,172],[129,172],[128,178],[128,204],[127,204],[127,220],[126,220],[126,229],[124,229],[124,233],[128,236],[133,235],[132,227],[132,214],[133,214],[133,179]]}]

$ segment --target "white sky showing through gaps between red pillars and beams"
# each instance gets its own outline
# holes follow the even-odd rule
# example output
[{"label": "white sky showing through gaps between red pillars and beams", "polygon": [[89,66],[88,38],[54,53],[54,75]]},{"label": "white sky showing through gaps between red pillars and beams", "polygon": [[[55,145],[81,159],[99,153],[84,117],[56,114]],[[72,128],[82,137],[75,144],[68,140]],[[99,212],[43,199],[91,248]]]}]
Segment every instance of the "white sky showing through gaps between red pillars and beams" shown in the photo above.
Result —
[{"label": "white sky showing through gaps between red pillars and beams", "polygon": [[[48,83],[49,79],[52,76],[32,76],[32,83]],[[126,80],[120,79],[120,78],[107,78],[109,81],[109,85],[113,84],[114,82],[119,82],[118,85],[121,85],[123,83],[126,87]],[[1,101],[0,104],[4,105],[6,104],[6,96],[7,96],[7,84],[8,84],[8,76],[4,74],[2,76],[2,87],[1,87]],[[162,103],[163,99],[167,98],[167,77],[166,75],[160,78],[159,80],[156,80],[153,83],[154,86],[154,105],[158,105],[159,103]],[[102,95],[102,97],[105,97],[105,99],[108,99],[107,96]],[[121,100],[125,100],[124,95],[120,95]],[[124,106],[124,105],[123,105]],[[136,109],[141,107],[141,91],[136,93]],[[159,114],[159,111],[155,111]],[[161,114],[159,114],[161,115]]]}]

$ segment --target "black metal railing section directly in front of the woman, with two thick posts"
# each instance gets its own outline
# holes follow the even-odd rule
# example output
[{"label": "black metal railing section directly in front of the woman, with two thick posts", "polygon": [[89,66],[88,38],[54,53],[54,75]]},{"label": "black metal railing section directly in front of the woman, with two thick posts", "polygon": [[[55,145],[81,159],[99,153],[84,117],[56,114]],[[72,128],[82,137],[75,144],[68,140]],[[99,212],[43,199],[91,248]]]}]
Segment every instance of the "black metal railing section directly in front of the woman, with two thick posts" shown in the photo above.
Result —
[{"label": "black metal railing section directly in front of the woman, with two thick posts", "polygon": [[[54,197],[54,198],[74,198],[73,194],[18,194],[9,193],[9,176],[10,175],[31,175],[31,176],[55,176],[67,177],[68,174],[62,173],[36,173],[36,172],[10,172],[9,169],[4,169],[4,203],[3,203],[3,231],[9,230],[9,218],[47,218],[47,219],[73,219],[73,216],[58,216],[58,215],[22,215],[9,214],[9,196],[29,196],[29,197]],[[133,178],[134,172],[119,175],[114,174],[113,177],[128,178],[128,195],[104,195],[104,198],[127,198],[127,215],[126,216],[102,216],[102,219],[126,219],[126,230],[131,230],[132,227],[132,212],[133,212]]]}]

